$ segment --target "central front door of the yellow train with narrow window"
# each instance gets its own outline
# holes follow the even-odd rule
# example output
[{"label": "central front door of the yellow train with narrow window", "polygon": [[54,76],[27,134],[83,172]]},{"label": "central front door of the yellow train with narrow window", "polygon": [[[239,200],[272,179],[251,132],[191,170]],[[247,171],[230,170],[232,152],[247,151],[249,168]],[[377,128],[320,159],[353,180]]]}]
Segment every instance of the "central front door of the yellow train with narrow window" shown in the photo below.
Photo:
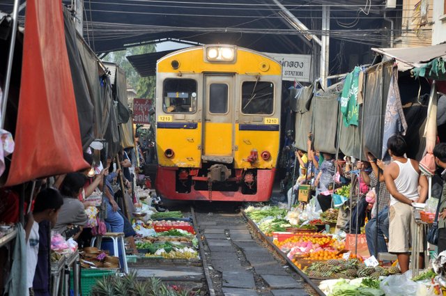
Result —
[{"label": "central front door of the yellow train with narrow window", "polygon": [[233,162],[234,75],[205,75],[203,156],[205,161]]}]

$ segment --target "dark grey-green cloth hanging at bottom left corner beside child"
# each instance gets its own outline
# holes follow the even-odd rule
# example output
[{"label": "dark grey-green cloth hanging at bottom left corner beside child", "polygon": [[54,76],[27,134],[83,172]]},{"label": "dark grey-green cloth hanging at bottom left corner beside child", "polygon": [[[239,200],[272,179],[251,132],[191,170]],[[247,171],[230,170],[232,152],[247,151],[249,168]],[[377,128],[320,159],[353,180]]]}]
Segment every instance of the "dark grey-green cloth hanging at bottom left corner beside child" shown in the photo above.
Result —
[{"label": "dark grey-green cloth hanging at bottom left corner beside child", "polygon": [[22,224],[17,223],[17,236],[15,237],[13,266],[6,281],[5,293],[8,296],[28,296],[26,288],[26,242],[25,231]]}]

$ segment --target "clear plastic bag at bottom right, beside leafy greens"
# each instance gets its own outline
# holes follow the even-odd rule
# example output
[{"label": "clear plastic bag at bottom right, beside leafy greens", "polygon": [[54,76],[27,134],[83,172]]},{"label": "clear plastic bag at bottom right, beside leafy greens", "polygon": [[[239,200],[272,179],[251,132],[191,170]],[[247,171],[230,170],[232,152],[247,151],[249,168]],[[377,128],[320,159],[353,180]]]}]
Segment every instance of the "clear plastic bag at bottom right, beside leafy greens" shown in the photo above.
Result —
[{"label": "clear plastic bag at bottom right, beside leafy greens", "polygon": [[412,271],[404,274],[387,276],[380,283],[385,295],[392,296],[417,296],[418,284],[412,281]]}]

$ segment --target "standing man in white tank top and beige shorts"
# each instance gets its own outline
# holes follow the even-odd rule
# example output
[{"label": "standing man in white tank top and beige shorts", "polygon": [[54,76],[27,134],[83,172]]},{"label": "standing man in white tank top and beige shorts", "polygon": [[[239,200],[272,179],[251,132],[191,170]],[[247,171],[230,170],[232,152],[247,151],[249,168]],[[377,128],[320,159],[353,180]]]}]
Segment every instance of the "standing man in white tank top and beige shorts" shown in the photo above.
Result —
[{"label": "standing man in white tank top and beige shorts", "polygon": [[[426,176],[421,174],[418,162],[404,157],[407,144],[403,137],[390,137],[387,141],[387,149],[392,157],[392,162],[384,170],[385,185],[391,195],[389,252],[397,254],[399,267],[404,273],[409,269],[410,243],[415,230],[412,203],[424,203],[428,182]],[[418,185],[420,185],[420,192]],[[422,248],[422,237],[420,237],[420,252],[423,251]],[[422,260],[421,256],[420,260]]]}]

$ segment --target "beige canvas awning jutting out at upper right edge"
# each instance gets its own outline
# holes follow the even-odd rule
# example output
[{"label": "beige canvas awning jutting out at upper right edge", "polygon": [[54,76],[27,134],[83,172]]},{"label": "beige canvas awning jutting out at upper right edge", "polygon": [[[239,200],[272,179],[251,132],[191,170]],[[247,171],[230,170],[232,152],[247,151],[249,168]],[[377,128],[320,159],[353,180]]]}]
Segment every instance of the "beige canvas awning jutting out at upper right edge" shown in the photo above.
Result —
[{"label": "beige canvas awning jutting out at upper right edge", "polygon": [[422,63],[428,63],[440,56],[446,57],[446,43],[426,47],[372,48],[371,50],[413,67],[418,67]]}]

